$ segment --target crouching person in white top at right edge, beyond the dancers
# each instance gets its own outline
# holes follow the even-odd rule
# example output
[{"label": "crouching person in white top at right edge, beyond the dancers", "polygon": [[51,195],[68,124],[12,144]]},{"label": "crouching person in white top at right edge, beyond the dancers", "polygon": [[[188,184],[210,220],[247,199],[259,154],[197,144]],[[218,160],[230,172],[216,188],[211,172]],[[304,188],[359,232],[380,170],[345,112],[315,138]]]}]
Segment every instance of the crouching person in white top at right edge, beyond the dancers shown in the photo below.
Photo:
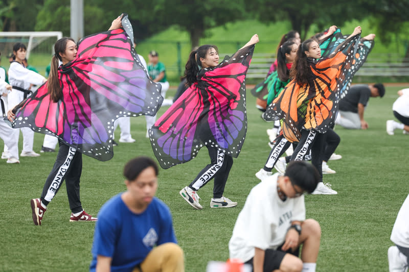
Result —
[{"label": "crouching person in white top at right edge, beyond the dancers", "polygon": [[403,130],[403,134],[409,134],[409,88],[398,91],[399,97],[392,106],[393,115],[400,121],[387,121],[387,133],[394,135],[394,130]]}]

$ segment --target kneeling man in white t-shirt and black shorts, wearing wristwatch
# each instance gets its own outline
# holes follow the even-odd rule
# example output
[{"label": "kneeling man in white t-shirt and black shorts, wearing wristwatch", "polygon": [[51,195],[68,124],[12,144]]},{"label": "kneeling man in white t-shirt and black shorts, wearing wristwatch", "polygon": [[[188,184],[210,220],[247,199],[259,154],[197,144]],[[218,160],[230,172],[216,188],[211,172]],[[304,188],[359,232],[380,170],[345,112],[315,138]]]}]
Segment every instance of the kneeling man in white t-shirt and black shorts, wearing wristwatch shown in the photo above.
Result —
[{"label": "kneeling man in white t-shirt and black shorts, wearing wristwatch", "polygon": [[[287,166],[257,184],[247,196],[233,236],[230,258],[253,265],[254,272],[315,271],[321,228],[305,219],[304,192],[313,192],[320,180],[316,168],[304,161]],[[298,258],[303,244],[302,260]]]}]

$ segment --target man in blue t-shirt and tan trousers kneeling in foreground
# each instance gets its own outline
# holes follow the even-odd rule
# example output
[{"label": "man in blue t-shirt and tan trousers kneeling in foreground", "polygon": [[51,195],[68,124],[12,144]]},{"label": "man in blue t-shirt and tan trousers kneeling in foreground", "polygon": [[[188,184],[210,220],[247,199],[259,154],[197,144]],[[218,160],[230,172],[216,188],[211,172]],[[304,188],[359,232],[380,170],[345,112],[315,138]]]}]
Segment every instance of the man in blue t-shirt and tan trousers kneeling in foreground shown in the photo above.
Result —
[{"label": "man in blue t-shirt and tan trousers kneeling in foreground", "polygon": [[156,163],[147,157],[125,165],[127,190],[98,214],[90,271],[184,271],[169,208],[154,197],[157,174]]}]

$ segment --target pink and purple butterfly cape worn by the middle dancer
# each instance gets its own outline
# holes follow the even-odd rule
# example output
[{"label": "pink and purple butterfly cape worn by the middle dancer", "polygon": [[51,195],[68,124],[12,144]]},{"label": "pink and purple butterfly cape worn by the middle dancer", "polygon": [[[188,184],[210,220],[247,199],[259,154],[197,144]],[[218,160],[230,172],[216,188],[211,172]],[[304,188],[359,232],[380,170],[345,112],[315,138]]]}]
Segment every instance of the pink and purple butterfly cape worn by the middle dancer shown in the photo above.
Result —
[{"label": "pink and purple butterfly cape worn by the middle dancer", "polygon": [[189,87],[149,130],[162,168],[193,159],[203,146],[238,157],[247,130],[245,77],[254,45],[199,71]]}]

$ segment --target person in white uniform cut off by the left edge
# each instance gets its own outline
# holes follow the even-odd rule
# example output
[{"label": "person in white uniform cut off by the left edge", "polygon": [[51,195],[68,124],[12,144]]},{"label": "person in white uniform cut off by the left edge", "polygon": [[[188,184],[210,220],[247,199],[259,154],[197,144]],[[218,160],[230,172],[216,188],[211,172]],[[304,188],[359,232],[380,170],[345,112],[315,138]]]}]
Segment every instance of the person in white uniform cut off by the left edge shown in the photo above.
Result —
[{"label": "person in white uniform cut off by the left edge", "polygon": [[[4,75],[0,75],[0,108],[2,113],[2,118],[7,116],[7,95],[12,87],[4,81]],[[5,99],[6,98],[6,99]],[[4,141],[5,149],[7,147],[7,153],[5,153],[5,158],[7,163],[20,163],[18,160],[18,146],[17,142],[11,137],[13,129],[7,125],[6,122],[0,120],[0,138]],[[2,156],[3,157],[3,156]]]}]

